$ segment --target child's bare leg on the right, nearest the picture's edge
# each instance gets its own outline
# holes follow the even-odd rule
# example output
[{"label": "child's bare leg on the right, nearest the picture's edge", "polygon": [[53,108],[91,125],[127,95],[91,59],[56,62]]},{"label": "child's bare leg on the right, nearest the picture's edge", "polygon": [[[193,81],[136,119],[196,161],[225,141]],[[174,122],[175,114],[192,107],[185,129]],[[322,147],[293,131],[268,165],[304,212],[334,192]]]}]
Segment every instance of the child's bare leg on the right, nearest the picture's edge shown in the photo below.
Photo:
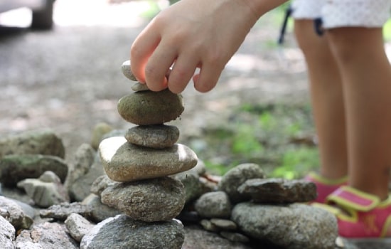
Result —
[{"label": "child's bare leg on the right, nearest the picture's edge", "polygon": [[326,32],[343,80],[349,184],[388,196],[391,165],[391,68],[381,28]]}]

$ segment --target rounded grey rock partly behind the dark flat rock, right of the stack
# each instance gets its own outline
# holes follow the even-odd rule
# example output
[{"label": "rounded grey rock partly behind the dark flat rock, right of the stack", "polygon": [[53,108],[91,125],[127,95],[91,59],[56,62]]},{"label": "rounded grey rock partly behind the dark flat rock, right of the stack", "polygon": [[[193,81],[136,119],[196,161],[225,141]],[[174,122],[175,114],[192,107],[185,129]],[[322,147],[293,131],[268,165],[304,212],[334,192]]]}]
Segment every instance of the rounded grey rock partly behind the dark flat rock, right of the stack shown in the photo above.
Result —
[{"label": "rounded grey rock partly behind the dark flat rock, right of the stack", "polygon": [[218,183],[218,189],[225,191],[232,203],[247,201],[250,196],[240,194],[237,188],[248,179],[264,178],[264,171],[258,164],[240,164],[230,169]]}]

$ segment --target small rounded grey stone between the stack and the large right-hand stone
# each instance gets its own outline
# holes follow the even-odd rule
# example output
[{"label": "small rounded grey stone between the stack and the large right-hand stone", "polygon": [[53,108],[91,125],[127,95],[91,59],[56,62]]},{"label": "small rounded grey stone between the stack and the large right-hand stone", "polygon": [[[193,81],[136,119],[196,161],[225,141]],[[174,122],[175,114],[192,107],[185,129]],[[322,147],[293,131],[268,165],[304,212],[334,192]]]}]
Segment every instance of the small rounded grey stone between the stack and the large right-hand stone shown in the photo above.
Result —
[{"label": "small rounded grey stone between the stack and the large right-hand stone", "polygon": [[194,208],[205,218],[229,218],[231,215],[230,198],[223,191],[203,194],[195,201]]}]

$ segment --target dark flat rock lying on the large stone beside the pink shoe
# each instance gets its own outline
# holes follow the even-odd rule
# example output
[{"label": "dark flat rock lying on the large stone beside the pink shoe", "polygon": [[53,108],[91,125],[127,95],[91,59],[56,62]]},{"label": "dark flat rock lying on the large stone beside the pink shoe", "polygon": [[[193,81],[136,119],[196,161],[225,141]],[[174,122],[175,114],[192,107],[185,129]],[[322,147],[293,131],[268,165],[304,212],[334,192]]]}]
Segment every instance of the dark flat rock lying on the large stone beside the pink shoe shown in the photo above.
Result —
[{"label": "dark flat rock lying on the large stone beside the pink shoe", "polygon": [[250,195],[257,203],[294,203],[314,201],[316,185],[306,180],[250,179],[237,191]]}]

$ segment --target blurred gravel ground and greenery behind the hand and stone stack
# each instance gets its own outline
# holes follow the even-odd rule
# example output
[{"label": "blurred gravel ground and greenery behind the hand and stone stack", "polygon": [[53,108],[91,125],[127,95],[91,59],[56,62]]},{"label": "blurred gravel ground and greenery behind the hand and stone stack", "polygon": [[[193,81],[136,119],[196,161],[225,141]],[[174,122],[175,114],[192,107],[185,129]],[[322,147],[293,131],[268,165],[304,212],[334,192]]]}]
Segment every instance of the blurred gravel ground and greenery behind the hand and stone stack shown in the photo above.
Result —
[{"label": "blurred gravel ground and greenery behind the hand and stone stack", "polygon": [[[80,144],[90,142],[95,124],[132,127],[117,113],[119,98],[132,92],[120,66],[137,34],[169,4],[56,0],[53,23],[40,23],[28,8],[2,12],[1,137],[53,129],[72,159]],[[183,92],[185,112],[171,124],[215,174],[251,161],[272,176],[294,178],[318,164],[306,68],[291,21],[285,43],[277,44],[286,7],[252,28],[215,90],[200,94],[189,84]]]}]

